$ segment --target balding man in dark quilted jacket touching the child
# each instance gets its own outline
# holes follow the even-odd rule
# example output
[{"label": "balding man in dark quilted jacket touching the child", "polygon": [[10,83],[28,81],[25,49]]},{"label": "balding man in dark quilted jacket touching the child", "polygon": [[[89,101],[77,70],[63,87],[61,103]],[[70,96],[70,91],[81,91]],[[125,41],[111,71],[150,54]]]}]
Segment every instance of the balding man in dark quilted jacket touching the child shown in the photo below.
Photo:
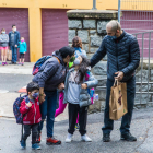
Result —
[{"label": "balding man in dark quilted jacket touching the child", "polygon": [[127,83],[128,113],[122,117],[120,132],[121,140],[137,141],[130,133],[130,123],[136,95],[134,70],[139,67],[140,49],[137,38],[121,30],[117,21],[110,21],[106,26],[107,35],[103,38],[101,47],[91,59],[91,67],[94,67],[107,54],[107,93],[104,115],[103,141],[110,141],[110,131],[114,121],[109,119],[109,96],[110,87],[115,79]]}]

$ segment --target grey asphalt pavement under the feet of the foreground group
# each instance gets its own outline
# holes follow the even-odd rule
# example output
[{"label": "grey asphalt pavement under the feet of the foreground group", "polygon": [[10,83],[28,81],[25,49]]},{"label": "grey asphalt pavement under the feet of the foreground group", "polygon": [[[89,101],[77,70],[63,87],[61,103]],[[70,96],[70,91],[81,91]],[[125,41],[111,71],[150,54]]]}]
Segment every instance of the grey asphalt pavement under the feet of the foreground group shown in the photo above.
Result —
[{"label": "grey asphalt pavement under the feet of the foreground group", "polygon": [[[55,123],[55,137],[62,141],[61,145],[46,145],[46,129],[43,129],[42,151],[39,153],[153,153],[153,108],[134,110],[131,122],[131,133],[138,139],[137,142],[120,140],[120,120],[115,121],[111,132],[111,142],[102,141],[102,126],[104,114],[89,115],[87,134],[93,142],[81,142],[80,134],[75,131],[72,143],[66,143],[68,120]],[[20,149],[21,126],[14,120],[0,118],[0,153],[33,153],[31,137],[27,139],[26,150]]]}]

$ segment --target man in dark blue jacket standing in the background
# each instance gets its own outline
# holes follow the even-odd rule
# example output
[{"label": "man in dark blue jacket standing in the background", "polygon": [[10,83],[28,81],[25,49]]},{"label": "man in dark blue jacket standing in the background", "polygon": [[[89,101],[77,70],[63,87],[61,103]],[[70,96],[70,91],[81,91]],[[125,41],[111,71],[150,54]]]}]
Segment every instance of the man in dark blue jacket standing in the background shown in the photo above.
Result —
[{"label": "man in dark blue jacket standing in the background", "polygon": [[12,25],[12,31],[9,33],[9,46],[12,50],[12,62],[16,64],[17,61],[17,44],[20,42],[20,32],[16,31],[16,25]]}]

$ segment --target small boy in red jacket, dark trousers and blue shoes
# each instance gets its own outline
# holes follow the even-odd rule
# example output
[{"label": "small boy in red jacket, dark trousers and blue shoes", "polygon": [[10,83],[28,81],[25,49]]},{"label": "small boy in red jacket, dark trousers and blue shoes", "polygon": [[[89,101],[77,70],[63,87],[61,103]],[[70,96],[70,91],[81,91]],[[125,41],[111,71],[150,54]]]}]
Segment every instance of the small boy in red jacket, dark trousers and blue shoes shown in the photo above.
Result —
[{"label": "small boy in red jacket, dark trousers and blue shoes", "polygon": [[31,82],[27,84],[27,97],[22,101],[20,111],[23,115],[24,134],[21,140],[22,149],[26,148],[26,139],[31,134],[32,130],[32,149],[40,150],[40,146],[36,143],[36,137],[38,132],[38,123],[42,120],[39,110],[39,86],[37,83]]}]

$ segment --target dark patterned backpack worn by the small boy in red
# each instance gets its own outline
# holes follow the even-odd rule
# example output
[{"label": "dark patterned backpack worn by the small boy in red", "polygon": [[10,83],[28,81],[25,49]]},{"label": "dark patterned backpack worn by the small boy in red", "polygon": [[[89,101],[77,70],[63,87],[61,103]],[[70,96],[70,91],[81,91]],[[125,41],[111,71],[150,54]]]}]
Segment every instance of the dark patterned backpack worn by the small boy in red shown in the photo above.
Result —
[{"label": "dark patterned backpack worn by the small boy in red", "polygon": [[26,99],[27,95],[17,97],[13,104],[13,113],[16,118],[16,123],[23,123],[23,116],[20,113],[20,106],[23,99]]}]

